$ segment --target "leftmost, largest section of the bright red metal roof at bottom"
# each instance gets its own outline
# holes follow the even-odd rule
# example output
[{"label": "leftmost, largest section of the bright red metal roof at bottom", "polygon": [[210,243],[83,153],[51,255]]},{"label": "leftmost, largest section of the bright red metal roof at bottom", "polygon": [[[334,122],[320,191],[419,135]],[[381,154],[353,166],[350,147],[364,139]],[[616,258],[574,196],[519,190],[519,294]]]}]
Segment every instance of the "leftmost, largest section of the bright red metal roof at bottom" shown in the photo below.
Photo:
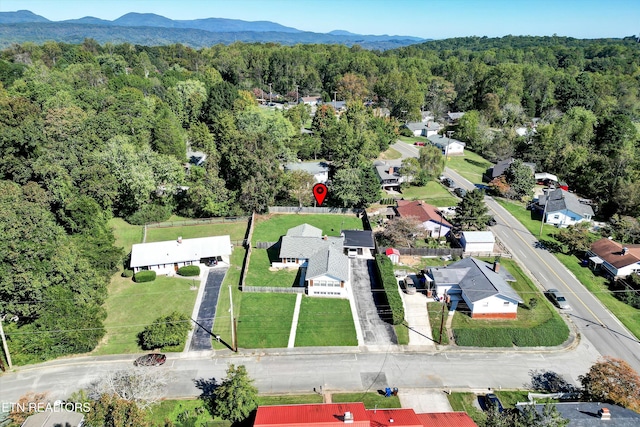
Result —
[{"label": "leftmost, largest section of the bright red metal roof at bottom", "polygon": [[[350,412],[353,422],[346,423]],[[254,427],[285,427],[313,425],[316,427],[370,427],[364,404],[326,403],[310,405],[259,406]]]}]

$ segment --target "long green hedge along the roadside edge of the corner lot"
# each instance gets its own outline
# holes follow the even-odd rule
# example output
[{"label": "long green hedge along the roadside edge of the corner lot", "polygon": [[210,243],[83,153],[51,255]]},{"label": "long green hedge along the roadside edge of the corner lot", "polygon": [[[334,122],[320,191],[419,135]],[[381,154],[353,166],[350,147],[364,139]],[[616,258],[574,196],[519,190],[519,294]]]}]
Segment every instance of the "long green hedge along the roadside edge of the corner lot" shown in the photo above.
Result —
[{"label": "long green hedge along the roadside edge of the corner lot", "polygon": [[454,329],[456,344],[470,347],[543,347],[562,344],[569,328],[558,316],[533,328]]}]

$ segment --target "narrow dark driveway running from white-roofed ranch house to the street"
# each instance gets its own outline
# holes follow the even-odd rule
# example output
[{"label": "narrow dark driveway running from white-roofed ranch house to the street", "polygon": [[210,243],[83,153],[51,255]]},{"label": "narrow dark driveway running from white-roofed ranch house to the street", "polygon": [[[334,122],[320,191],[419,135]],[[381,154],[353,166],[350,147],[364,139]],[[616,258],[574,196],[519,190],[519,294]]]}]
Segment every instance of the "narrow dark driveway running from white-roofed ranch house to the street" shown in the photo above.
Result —
[{"label": "narrow dark driveway running from white-roofed ranch house to the street", "polygon": [[212,268],[207,275],[207,283],[204,288],[204,295],[198,310],[198,324],[195,325],[189,351],[211,350],[211,331],[213,331],[213,319],[216,317],[216,307],[218,306],[218,295],[220,286],[227,273],[227,268]]}]

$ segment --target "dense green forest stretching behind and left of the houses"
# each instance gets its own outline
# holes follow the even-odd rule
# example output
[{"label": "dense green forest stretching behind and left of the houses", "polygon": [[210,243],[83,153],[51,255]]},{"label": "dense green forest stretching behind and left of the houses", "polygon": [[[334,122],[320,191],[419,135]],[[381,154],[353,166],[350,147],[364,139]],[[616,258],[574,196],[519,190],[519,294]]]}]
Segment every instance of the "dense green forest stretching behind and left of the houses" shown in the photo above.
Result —
[{"label": "dense green forest stretching behind and left of the houses", "polygon": [[[640,216],[640,45],[561,37],[465,38],[386,52],[243,44],[194,50],[24,43],[0,52],[0,314],[12,353],[93,349],[109,277],[126,254],[113,216],[134,224],[298,204],[295,159],[332,163],[334,206],[378,200],[371,160],[399,125],[466,111],[455,136],[491,159],[516,156],[599,202]],[[331,103],[313,118],[300,104]],[[390,117],[381,111],[390,111]],[[515,129],[536,130],[519,136]],[[301,127],[311,121],[312,134]],[[185,167],[187,147],[207,154]],[[32,360],[33,360],[32,359]]]}]

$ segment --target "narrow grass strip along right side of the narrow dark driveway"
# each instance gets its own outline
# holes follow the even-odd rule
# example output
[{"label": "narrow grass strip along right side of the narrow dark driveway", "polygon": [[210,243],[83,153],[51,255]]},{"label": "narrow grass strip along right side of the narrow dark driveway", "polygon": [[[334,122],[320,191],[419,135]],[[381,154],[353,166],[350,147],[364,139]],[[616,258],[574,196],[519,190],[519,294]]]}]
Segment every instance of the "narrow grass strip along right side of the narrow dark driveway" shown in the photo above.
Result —
[{"label": "narrow grass strip along right side of the narrow dark driveway", "polygon": [[[240,272],[245,252],[245,249],[242,247],[236,246],[233,248],[230,259],[231,266],[229,267],[229,270],[227,270],[224,282],[222,282],[222,287],[220,288],[220,294],[218,295],[218,307],[216,308],[216,319],[213,323],[214,335],[220,335],[220,338],[229,345],[232,344],[231,319],[229,318],[229,308],[231,306],[231,301],[229,301],[229,287],[231,287],[233,296],[233,312],[236,315],[236,318],[238,318],[243,296],[240,289],[238,289],[238,286],[240,285]],[[212,342],[214,350],[227,348],[224,344],[218,343],[215,339]]]}]

